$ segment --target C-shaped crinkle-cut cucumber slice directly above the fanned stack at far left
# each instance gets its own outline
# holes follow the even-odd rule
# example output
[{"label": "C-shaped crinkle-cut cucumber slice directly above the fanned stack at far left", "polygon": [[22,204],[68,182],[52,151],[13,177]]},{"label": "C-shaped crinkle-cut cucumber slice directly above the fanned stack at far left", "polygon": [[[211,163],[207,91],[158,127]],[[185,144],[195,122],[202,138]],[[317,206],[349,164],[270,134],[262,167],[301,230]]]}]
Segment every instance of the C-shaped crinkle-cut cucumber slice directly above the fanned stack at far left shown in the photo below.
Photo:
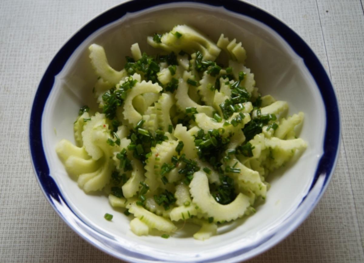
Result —
[{"label": "C-shaped crinkle-cut cucumber slice directly above the fanned stack at far left", "polygon": [[[98,160],[103,156],[103,152],[99,146],[95,145],[92,140],[92,132],[97,127],[107,126],[105,114],[96,112],[95,116],[91,117],[91,120],[87,121],[83,126],[82,141],[87,153],[94,159]],[[106,127],[105,127],[106,128]],[[106,142],[107,138],[105,139]]]}]

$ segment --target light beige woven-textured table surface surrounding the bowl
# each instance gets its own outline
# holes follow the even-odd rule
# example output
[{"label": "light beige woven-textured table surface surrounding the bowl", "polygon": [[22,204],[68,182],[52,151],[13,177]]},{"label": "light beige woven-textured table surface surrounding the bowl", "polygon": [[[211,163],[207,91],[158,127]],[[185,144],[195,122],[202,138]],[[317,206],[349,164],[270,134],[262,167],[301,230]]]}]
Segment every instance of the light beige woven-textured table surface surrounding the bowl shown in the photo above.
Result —
[{"label": "light beige woven-textured table surface surrounding the bowl", "polygon": [[[360,0],[252,0],[284,20],[329,72],[342,144],[323,199],[287,239],[249,262],[364,262],[364,11]],[[41,192],[28,150],[32,99],[83,24],[120,1],[0,1],[0,262],[120,262],[74,233]]]}]

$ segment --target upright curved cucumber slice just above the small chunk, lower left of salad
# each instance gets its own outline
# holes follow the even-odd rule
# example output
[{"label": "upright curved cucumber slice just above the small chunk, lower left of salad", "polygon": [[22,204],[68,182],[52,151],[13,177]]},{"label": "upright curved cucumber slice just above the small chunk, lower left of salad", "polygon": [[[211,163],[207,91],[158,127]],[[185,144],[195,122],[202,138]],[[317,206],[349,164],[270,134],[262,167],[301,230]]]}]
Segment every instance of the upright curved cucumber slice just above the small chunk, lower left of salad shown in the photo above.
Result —
[{"label": "upright curved cucumber slice just above the small chunk, lower left of salad", "polygon": [[126,198],[134,196],[139,191],[139,183],[144,181],[144,169],[142,163],[132,157],[131,165],[133,167],[131,177],[121,187]]}]

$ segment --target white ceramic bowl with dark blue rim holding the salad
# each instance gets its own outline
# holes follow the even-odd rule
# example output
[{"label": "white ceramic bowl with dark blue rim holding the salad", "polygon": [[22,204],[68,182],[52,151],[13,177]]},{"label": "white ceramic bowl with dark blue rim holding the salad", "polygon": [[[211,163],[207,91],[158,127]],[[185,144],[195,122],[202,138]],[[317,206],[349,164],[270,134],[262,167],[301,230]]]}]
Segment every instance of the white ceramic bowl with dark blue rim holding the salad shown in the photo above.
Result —
[{"label": "white ceramic bowl with dark blue rim holding the salad", "polygon": [[[112,211],[107,198],[86,195],[67,175],[55,144],[74,140],[73,122],[82,105],[94,102],[96,75],[87,47],[104,46],[109,62],[124,66],[131,44],[149,52],[146,36],[188,24],[216,41],[221,33],[242,41],[247,66],[262,94],[303,111],[300,134],[308,148],[294,165],[272,176],[257,213],[218,229],[204,242],[174,235],[138,237],[129,219]],[[237,0],[136,0],[114,7],[78,31],[59,50],[39,84],[30,117],[29,144],[37,180],[50,204],[76,233],[101,250],[131,262],[237,262],[251,258],[298,227],[322,196],[336,163],[340,119],[333,87],[307,44],[269,13]],[[104,213],[114,214],[112,222]]]}]

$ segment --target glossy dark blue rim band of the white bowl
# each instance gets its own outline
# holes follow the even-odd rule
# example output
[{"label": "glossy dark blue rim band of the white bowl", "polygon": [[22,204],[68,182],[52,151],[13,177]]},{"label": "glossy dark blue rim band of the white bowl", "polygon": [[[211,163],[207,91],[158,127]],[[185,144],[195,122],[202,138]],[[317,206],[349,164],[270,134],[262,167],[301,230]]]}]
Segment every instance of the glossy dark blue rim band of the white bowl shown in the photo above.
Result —
[{"label": "glossy dark blue rim band of the white bowl", "polygon": [[[44,106],[46,105],[46,101],[54,85],[55,76],[59,74],[60,71],[62,71],[68,58],[70,58],[76,48],[88,36],[90,36],[92,33],[103,27],[104,25],[110,24],[115,20],[120,19],[121,17],[126,15],[127,12],[138,12],[147,8],[155,7],[157,5],[170,3],[197,3],[210,5],[212,7],[223,7],[227,11],[237,13],[239,15],[248,16],[267,25],[278,35],[280,35],[281,38],[289,44],[292,50],[303,59],[306,68],[312,75],[318,89],[320,90],[320,94],[325,105],[326,130],[324,137],[324,153],[320,161],[318,162],[312,185],[307,195],[302,199],[301,204],[298,206],[298,208],[304,203],[305,198],[315,186],[318,178],[324,177],[324,181],[317,196],[313,200],[311,200],[311,203],[305,205],[304,211],[306,213],[304,214],[304,216],[296,216],[295,220],[286,220],[285,227],[281,227],[276,231],[280,231],[279,235],[277,233],[276,235],[273,234],[271,236],[265,237],[265,239],[260,240],[260,243],[258,243],[256,246],[248,248],[248,251],[247,248],[242,248],[241,250],[230,251],[228,254],[207,259],[203,262],[217,262],[220,260],[228,259],[229,262],[236,262],[252,258],[253,256],[256,256],[268,250],[270,247],[274,246],[282,239],[284,239],[287,235],[289,235],[289,233],[296,229],[306,219],[312,209],[316,206],[323,192],[325,191],[330,178],[332,177],[333,169],[339,155],[339,145],[341,137],[339,107],[335,96],[335,91],[327,75],[327,72],[325,71],[324,67],[322,66],[314,52],[309,48],[304,40],[302,40],[300,36],[296,34],[296,32],[288,27],[288,25],[286,25],[270,13],[252,4],[245,3],[239,0],[225,0],[223,1],[223,3],[221,3],[221,1],[219,0],[134,0],[113,7],[84,25],[83,28],[76,32],[76,34],[73,35],[66,44],[64,44],[64,46],[52,59],[36,91],[29,121],[29,148],[33,163],[33,169],[35,170],[40,188],[46,196],[47,200],[52,205],[52,207],[55,209],[58,215],[86,241],[100,248],[104,252],[107,252],[108,254],[123,260],[138,260],[139,262],[156,262],[157,260],[159,260],[158,258],[154,258],[153,256],[146,256],[137,252],[129,251],[120,246],[114,247],[110,245],[110,240],[108,237],[103,236],[102,233],[97,232],[95,229],[88,226],[77,215],[75,215],[75,213],[72,211],[72,209],[69,207],[64,197],[62,196],[62,193],[60,192],[55,181],[50,176],[50,170],[43,150],[41,136],[41,119]],[[60,205],[63,207],[65,206],[62,211],[61,209],[59,209]],[[77,225],[68,222],[65,217],[66,213],[72,214],[73,219],[75,220]]]}]

